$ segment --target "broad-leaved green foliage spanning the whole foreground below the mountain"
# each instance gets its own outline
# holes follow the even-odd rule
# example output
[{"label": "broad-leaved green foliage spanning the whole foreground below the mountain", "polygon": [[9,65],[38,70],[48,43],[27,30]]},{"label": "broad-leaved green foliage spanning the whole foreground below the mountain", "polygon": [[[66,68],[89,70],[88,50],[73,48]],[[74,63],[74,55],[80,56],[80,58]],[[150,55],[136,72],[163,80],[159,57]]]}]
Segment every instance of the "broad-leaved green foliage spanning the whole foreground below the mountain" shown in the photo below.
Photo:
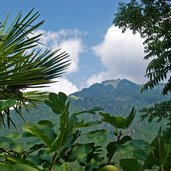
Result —
[{"label": "broad-leaved green foliage spanning the whole foreground below the mountain", "polygon": [[[134,108],[127,117],[112,116],[99,108],[70,112],[69,98],[61,92],[50,93],[45,103],[55,113],[54,122],[25,123],[22,135],[1,136],[0,168],[72,171],[74,167],[77,171],[95,171],[112,164],[124,171],[170,171],[171,146],[161,131],[151,143],[132,139],[128,130],[135,118]],[[99,120],[88,122],[80,115],[98,115]],[[109,142],[108,127],[101,129],[103,123],[113,130]],[[96,125],[99,127],[94,131],[87,129]],[[119,153],[124,155],[116,160]]]}]

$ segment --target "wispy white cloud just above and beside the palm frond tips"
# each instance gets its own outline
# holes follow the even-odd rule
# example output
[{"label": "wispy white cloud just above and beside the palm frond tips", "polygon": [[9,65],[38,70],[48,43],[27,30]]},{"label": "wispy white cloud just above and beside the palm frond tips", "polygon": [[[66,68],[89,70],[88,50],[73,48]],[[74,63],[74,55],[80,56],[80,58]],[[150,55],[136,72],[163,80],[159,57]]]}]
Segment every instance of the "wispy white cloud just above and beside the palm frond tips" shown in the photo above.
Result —
[{"label": "wispy white cloud just above and beside the palm frond tips", "polygon": [[57,32],[37,30],[35,34],[42,34],[39,45],[42,49],[59,49],[66,51],[71,59],[67,73],[78,71],[80,54],[84,51],[81,36],[84,34],[79,30],[60,30]]}]

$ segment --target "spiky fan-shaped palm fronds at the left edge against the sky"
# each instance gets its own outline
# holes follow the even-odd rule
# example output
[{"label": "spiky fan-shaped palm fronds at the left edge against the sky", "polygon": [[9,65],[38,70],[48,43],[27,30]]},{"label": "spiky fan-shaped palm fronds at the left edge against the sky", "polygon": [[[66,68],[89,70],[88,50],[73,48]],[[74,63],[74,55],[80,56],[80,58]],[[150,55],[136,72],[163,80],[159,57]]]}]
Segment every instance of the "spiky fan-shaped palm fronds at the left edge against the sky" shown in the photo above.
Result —
[{"label": "spiky fan-shaped palm fronds at the left edge against the sky", "polygon": [[[0,100],[16,100],[13,107],[17,112],[21,105],[46,96],[43,92],[24,93],[22,90],[47,86],[70,64],[66,52],[38,48],[41,34],[35,31],[44,22],[36,23],[39,15],[31,10],[23,17],[20,12],[11,24],[7,23],[7,16],[0,25]],[[9,111],[9,108],[1,111],[2,119],[8,115],[8,123],[11,121]]]}]

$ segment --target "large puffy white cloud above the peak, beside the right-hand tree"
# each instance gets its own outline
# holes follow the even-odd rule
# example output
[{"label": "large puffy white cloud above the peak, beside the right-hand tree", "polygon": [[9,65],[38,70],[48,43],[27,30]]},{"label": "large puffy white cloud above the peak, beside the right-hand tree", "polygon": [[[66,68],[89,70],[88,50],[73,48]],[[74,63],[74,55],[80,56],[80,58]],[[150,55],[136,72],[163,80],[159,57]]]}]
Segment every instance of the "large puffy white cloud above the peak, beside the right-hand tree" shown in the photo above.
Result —
[{"label": "large puffy white cloud above the peak, beside the right-hand tree", "polygon": [[145,81],[147,62],[143,60],[144,46],[139,34],[134,35],[130,30],[122,33],[118,27],[111,26],[103,42],[92,47],[92,50],[100,58],[106,71],[89,78],[88,85],[117,78],[126,78],[137,83]]}]

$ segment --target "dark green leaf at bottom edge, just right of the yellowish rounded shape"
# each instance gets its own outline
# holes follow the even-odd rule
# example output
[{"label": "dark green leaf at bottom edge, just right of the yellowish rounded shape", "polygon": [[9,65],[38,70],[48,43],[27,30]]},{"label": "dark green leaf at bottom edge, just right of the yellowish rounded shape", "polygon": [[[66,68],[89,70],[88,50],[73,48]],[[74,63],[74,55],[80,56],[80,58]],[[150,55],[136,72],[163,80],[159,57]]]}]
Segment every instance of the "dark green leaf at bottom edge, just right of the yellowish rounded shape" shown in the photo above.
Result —
[{"label": "dark green leaf at bottom edge, just right of the yellowish rounded shape", "polygon": [[144,171],[137,159],[121,159],[120,166],[124,171]]}]

